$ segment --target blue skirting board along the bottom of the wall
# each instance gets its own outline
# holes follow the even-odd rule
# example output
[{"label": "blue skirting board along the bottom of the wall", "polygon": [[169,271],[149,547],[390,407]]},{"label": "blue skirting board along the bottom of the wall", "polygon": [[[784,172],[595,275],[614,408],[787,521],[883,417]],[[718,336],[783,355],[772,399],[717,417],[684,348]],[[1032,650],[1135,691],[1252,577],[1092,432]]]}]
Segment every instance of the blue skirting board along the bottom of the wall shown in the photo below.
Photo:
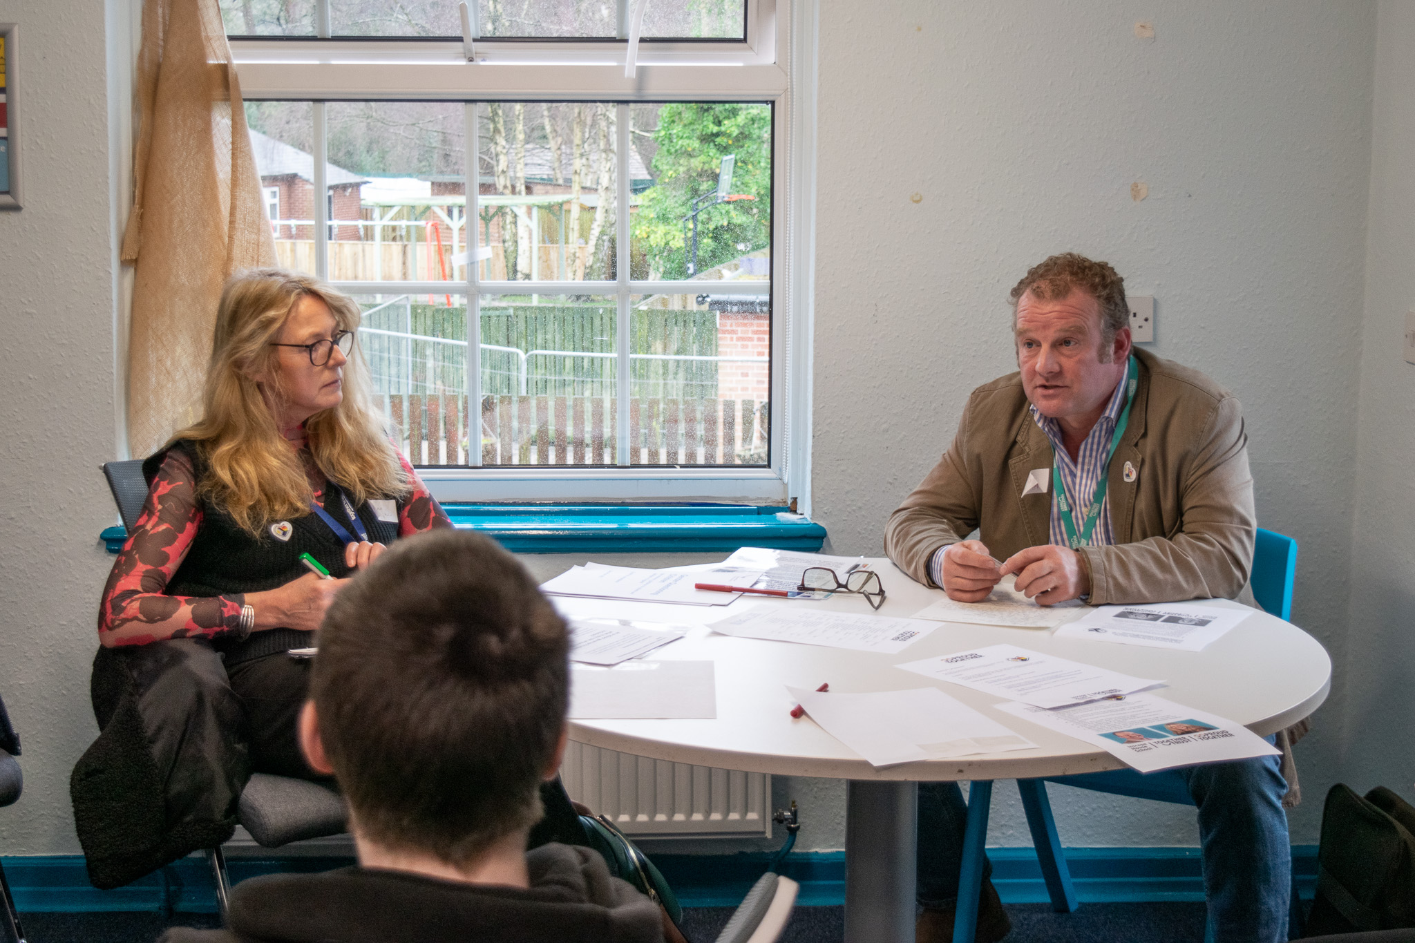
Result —
[{"label": "blue skirting board along the bottom of the wall", "polygon": [[[1044,903],[1047,889],[1032,848],[989,848],[992,881],[1005,903]],[[1203,901],[1197,848],[1067,848],[1077,896],[1090,903],[1146,901]],[[683,906],[737,906],[761,877],[771,855],[652,855]],[[115,891],[88,882],[81,855],[0,858],[20,910],[181,910],[216,909],[211,871],[192,855]],[[1317,847],[1293,845],[1298,888],[1310,898],[1316,886]],[[350,858],[228,857],[232,881],[282,871],[327,871],[352,864]],[[845,853],[802,851],[787,858],[784,874],[801,882],[801,906],[845,902]]]}]

